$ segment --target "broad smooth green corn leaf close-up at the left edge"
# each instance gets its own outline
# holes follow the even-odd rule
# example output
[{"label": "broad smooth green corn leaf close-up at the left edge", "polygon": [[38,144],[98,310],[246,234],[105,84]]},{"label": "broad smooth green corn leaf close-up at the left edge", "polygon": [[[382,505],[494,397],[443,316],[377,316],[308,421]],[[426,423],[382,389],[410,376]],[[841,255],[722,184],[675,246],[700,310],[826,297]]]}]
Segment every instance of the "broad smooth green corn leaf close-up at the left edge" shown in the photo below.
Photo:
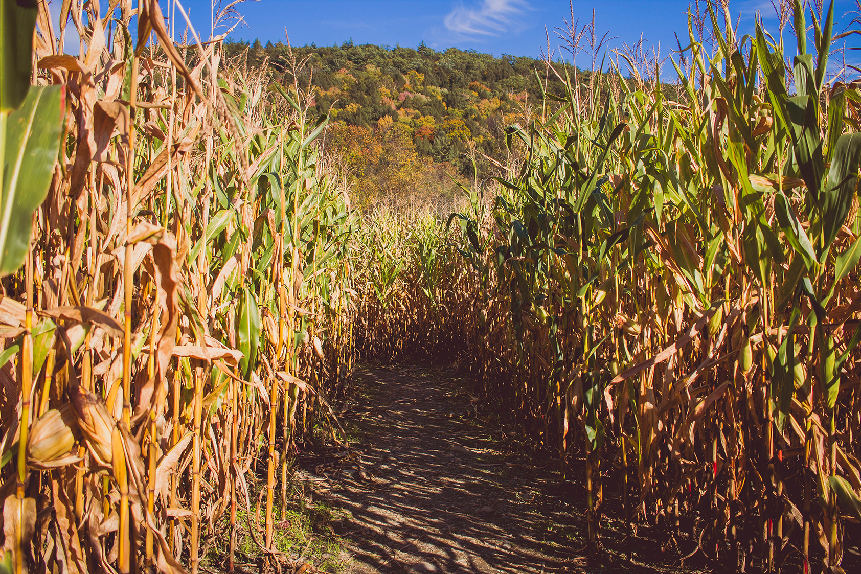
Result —
[{"label": "broad smooth green corn leaf close-up at the left edge", "polygon": [[[5,6],[7,2],[3,2]],[[3,187],[0,195],[0,275],[22,266],[33,212],[51,185],[62,133],[63,88],[30,89],[21,108],[5,118]]]}]

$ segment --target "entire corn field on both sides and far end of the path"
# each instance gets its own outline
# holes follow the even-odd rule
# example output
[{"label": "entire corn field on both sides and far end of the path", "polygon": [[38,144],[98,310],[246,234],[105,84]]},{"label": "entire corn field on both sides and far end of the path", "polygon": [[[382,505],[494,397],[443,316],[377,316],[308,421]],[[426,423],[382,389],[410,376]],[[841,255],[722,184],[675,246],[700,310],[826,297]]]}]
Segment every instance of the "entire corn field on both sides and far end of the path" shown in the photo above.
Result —
[{"label": "entire corn field on both sides and far end of the path", "polygon": [[831,77],[833,6],[796,0],[810,41],[709,3],[675,83],[631,51],[560,77],[440,218],[353,212],[311,86],[222,61],[181,3],[106,4],[55,30],[2,3],[0,570],[233,571],[240,536],[300,570],[294,455],[346,442],[354,360],[422,355],[583,486],[585,552],[606,485],[683,562],[841,571],[861,82]]}]

